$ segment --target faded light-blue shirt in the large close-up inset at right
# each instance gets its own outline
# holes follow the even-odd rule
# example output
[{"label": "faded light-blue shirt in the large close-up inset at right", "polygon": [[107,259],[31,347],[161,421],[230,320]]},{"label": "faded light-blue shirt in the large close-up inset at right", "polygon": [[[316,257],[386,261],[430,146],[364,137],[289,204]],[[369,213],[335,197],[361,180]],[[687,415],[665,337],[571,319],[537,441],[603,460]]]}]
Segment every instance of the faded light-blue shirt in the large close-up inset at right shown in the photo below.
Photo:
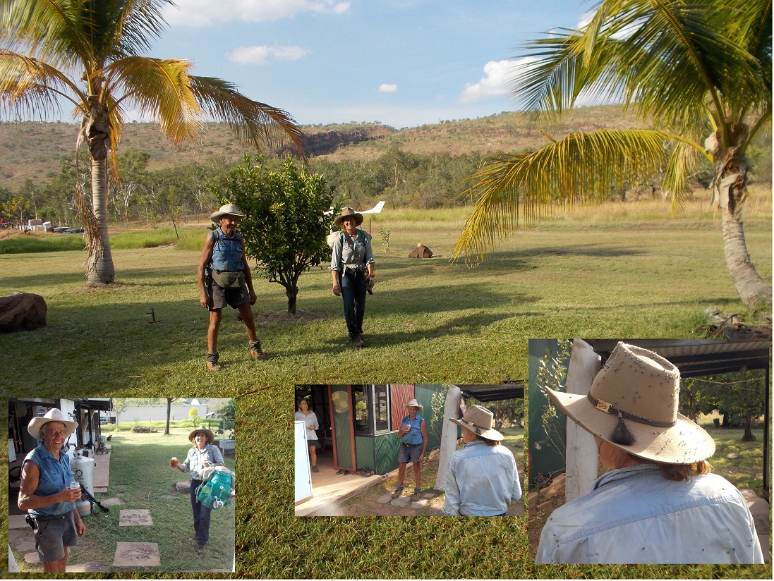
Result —
[{"label": "faded light-blue shirt in the large close-up inset at right", "polygon": [[667,480],[655,464],[604,473],[553,511],[535,562],[762,563],[745,498],[717,474]]}]

